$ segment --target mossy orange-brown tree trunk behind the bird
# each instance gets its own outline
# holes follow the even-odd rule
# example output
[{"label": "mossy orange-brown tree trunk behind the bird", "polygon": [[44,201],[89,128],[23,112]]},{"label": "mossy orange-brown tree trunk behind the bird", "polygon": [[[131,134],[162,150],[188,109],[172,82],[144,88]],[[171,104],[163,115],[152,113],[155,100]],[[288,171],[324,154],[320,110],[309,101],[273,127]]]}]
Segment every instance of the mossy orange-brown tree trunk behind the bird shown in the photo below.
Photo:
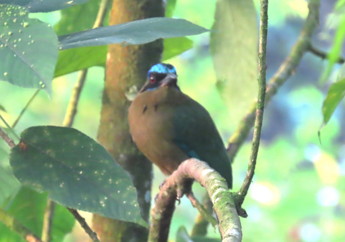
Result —
[{"label": "mossy orange-brown tree trunk behind the bird", "polygon": [[[164,16],[162,0],[114,0],[109,24]],[[132,142],[126,98],[132,85],[144,84],[151,65],[160,62],[162,40],[135,46],[110,45],[107,54],[105,89],[103,92],[98,141],[127,170],[138,192],[144,220],[149,220],[152,165]],[[94,214],[92,227],[102,242],[147,241],[148,230],[139,225],[104,218]]]}]

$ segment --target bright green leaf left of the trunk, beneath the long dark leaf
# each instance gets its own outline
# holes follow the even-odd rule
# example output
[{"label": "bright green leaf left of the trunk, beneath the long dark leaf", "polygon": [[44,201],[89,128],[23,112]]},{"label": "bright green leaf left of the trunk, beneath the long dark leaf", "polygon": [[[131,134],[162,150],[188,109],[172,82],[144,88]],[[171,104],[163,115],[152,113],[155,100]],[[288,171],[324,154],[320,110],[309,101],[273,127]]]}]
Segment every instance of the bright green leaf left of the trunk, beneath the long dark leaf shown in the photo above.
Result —
[{"label": "bright green leaf left of the trunk, beneath the long dark leaf", "polygon": [[[106,63],[108,46],[90,46],[59,51],[54,77]],[[92,58],[90,58],[92,57]]]}]

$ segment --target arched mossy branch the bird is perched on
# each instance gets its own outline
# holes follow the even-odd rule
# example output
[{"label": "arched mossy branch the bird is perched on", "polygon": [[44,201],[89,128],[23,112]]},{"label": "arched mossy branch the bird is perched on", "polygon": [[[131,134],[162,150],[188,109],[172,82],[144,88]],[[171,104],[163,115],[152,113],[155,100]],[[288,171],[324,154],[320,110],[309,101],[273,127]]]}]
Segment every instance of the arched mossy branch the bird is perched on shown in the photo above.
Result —
[{"label": "arched mossy branch the bird is perched on", "polygon": [[242,240],[242,229],[237,215],[235,201],[224,178],[210,168],[206,162],[188,159],[182,162],[162,185],[151,211],[152,222],[149,241],[167,241],[172,214],[179,189],[193,178],[204,186],[213,203],[219,220],[219,230],[224,241]]}]

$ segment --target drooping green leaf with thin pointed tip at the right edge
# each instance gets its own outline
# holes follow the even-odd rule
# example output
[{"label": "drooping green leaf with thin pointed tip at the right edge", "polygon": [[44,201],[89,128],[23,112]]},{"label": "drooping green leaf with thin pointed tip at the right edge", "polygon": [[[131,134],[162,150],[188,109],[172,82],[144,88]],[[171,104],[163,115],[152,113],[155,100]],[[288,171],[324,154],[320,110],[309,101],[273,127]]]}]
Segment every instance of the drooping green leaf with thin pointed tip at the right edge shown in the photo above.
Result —
[{"label": "drooping green leaf with thin pointed tip at the right edge", "polygon": [[322,105],[323,122],[322,127],[324,127],[329,119],[331,119],[332,114],[338,104],[343,100],[345,95],[345,78],[333,83],[329,87],[326,99]]}]

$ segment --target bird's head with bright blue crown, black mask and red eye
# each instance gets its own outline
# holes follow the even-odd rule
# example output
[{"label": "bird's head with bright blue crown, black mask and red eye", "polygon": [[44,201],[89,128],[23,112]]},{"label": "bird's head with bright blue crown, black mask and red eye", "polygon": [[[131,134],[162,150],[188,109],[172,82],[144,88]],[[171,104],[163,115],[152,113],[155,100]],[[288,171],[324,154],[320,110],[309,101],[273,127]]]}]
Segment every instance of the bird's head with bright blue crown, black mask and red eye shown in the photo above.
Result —
[{"label": "bird's head with bright blue crown, black mask and red eye", "polygon": [[158,63],[147,72],[147,82],[139,92],[152,91],[163,86],[174,87],[180,91],[175,67],[171,64]]}]

